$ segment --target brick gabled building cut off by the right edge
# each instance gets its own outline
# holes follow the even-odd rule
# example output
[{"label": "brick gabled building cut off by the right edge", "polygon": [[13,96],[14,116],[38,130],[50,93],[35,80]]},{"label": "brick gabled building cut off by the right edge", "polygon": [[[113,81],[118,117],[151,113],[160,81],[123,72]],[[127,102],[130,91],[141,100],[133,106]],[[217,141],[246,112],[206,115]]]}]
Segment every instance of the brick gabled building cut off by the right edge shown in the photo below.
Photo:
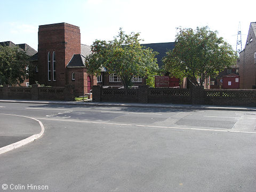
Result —
[{"label": "brick gabled building cut off by the right edge", "polygon": [[[250,38],[252,42],[250,43]],[[248,42],[248,44],[247,44]],[[256,52],[256,38],[250,25],[244,50],[239,54],[240,89],[252,89],[256,84],[256,65],[254,64],[254,53]]]}]

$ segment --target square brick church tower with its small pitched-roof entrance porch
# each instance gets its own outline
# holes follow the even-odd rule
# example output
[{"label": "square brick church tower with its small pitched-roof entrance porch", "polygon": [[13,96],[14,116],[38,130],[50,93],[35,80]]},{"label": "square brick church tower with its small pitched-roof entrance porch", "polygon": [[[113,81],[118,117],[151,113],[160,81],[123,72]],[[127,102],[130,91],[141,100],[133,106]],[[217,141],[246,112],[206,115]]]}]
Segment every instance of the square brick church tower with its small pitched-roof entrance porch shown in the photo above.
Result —
[{"label": "square brick church tower with its small pitched-roof entrance porch", "polygon": [[32,60],[36,66],[34,79],[46,86],[73,85],[82,95],[97,85],[97,77],[87,74],[84,57],[90,46],[81,44],[80,29],[68,23],[42,25],[38,28],[38,53]]}]

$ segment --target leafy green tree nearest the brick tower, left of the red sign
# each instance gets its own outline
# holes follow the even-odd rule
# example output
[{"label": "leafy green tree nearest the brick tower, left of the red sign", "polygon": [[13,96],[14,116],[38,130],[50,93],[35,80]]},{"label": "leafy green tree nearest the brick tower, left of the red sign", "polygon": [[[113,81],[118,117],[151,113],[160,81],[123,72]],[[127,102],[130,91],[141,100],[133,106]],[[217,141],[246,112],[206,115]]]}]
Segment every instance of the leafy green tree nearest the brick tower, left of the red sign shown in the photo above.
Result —
[{"label": "leafy green tree nearest the brick tower, left of the red sign", "polygon": [[115,73],[125,89],[132,85],[132,77],[146,77],[158,70],[157,59],[152,49],[140,45],[139,33],[126,35],[120,28],[113,41],[96,40],[91,45],[92,53],[85,63],[89,74],[100,74],[105,67],[109,74]]}]

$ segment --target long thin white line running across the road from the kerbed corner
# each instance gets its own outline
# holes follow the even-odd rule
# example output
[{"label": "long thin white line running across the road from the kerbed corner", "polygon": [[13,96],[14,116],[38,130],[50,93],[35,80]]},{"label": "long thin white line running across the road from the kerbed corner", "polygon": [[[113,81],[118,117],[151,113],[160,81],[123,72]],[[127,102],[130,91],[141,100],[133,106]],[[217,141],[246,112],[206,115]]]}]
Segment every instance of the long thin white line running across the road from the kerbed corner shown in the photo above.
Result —
[{"label": "long thin white line running across the road from the kerbed corner", "polygon": [[195,130],[195,131],[231,132],[231,133],[252,133],[252,134],[256,134],[256,132],[249,132],[249,131],[231,131],[231,130],[218,130],[218,129],[199,129],[199,128],[189,128],[189,127],[171,127],[171,126],[155,126],[155,125],[138,125],[138,124],[106,123],[106,122],[92,122],[92,121],[67,120],[67,119],[49,119],[49,118],[37,118],[37,119],[44,119],[44,120],[50,120],[50,121],[76,122],[76,123],[95,123],[95,124],[107,124],[107,125],[139,126],[139,127],[151,127],[151,128],[163,128],[163,129],[176,129],[176,130]]}]

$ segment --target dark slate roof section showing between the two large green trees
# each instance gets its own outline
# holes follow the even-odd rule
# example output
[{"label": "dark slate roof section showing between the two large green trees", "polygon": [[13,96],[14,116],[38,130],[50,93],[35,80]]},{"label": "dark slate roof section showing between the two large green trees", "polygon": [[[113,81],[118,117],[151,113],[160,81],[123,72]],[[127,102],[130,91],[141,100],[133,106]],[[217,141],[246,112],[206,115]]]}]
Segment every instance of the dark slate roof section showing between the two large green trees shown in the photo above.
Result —
[{"label": "dark slate roof section showing between the two large green trees", "polygon": [[156,55],[157,64],[159,68],[163,66],[162,59],[166,55],[166,52],[172,50],[175,46],[175,42],[167,42],[167,43],[149,43],[149,44],[141,44],[145,47],[150,47],[154,51],[158,52],[159,54]]}]

